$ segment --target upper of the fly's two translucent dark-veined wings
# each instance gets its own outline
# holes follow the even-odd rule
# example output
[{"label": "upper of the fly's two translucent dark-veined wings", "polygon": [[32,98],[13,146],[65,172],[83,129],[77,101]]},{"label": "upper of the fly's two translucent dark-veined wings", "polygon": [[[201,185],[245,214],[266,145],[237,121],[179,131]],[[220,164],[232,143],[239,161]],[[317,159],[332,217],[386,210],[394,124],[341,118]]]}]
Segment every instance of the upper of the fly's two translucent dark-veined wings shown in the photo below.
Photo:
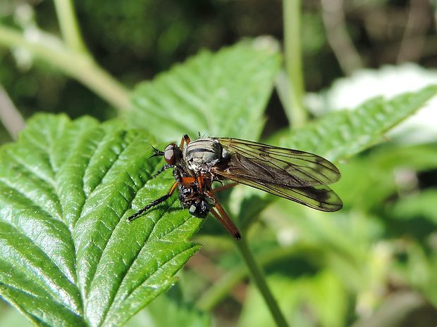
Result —
[{"label": "upper of the fly's two translucent dark-veined wings", "polygon": [[232,154],[229,165],[221,168],[238,179],[299,188],[331,184],[340,179],[337,167],[319,155],[239,139],[217,140]]}]

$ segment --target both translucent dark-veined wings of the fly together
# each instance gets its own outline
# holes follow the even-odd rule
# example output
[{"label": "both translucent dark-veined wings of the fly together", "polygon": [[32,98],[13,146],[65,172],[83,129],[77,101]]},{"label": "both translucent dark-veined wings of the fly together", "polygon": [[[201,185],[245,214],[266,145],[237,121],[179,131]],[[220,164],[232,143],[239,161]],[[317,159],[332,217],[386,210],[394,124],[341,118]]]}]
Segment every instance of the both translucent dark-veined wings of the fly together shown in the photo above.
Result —
[{"label": "both translucent dark-veined wings of the fly together", "polygon": [[338,195],[325,186],[340,179],[340,172],[328,160],[238,139],[219,142],[232,155],[226,165],[214,167],[216,174],[317,210],[333,212],[343,206]]}]

